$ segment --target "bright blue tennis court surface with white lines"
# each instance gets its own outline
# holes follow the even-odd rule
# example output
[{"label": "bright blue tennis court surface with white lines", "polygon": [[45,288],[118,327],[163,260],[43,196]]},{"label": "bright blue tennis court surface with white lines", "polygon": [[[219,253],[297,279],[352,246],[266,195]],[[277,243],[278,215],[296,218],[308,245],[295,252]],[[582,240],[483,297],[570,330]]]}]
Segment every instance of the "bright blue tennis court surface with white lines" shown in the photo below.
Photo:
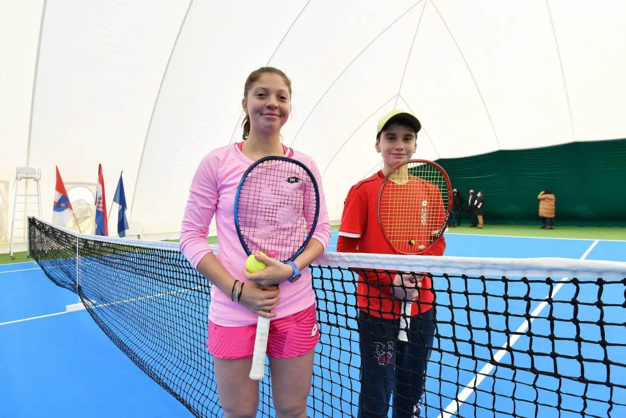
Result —
[{"label": "bright blue tennis court surface with white lines", "polygon": [[[334,233],[336,234],[336,233]],[[446,255],[471,256],[489,258],[535,258],[562,257],[572,259],[598,259],[609,261],[626,261],[626,241],[594,241],[592,239],[548,239],[548,238],[513,238],[500,236],[480,236],[464,234],[446,234]],[[336,243],[336,235],[332,244]],[[334,251],[331,246],[329,251]],[[433,272],[435,273],[435,272]],[[545,280],[544,278],[537,278]],[[561,278],[553,278],[558,282]],[[607,402],[610,390],[598,389],[594,385],[585,385],[575,380],[584,376],[587,379],[602,380],[610,370],[612,382],[626,381],[623,368],[612,367],[602,363],[605,348],[590,343],[605,339],[613,343],[626,343],[626,330],[621,327],[602,327],[594,323],[604,320],[610,323],[626,323],[626,311],[614,307],[598,309],[597,301],[613,305],[623,303],[623,283],[607,283],[598,295],[596,283],[586,283],[579,278],[580,291],[575,293],[575,286],[563,286],[555,291],[548,285],[528,286],[514,280],[505,289],[502,281],[488,281],[485,285],[475,281],[466,286],[462,279],[438,278],[434,282],[437,290],[450,288],[451,294],[438,292],[438,298],[446,305],[464,308],[472,307],[471,312],[464,309],[439,310],[438,319],[443,325],[438,327],[440,347],[433,353],[429,363],[426,381],[426,404],[424,416],[439,417],[441,410],[448,414],[442,416],[493,416],[493,407],[505,415],[547,416],[545,406],[557,404],[557,397],[562,397],[562,405],[575,411],[585,410],[586,414],[607,416]],[[532,278],[529,278],[532,280]],[[595,281],[595,278],[593,279]],[[345,283],[344,283],[345,284]],[[474,287],[473,287],[474,286]],[[478,286],[478,287],[476,287]],[[483,286],[485,286],[483,288]],[[557,285],[555,285],[557,286]],[[316,283],[318,289],[329,289],[328,282]],[[469,296],[463,290],[469,290]],[[454,293],[458,290],[459,293]],[[329,416],[350,416],[358,398],[358,347],[356,335],[356,317],[354,305],[356,301],[351,289],[343,288],[341,292],[325,292],[321,300],[322,311],[329,311],[329,317],[322,317],[322,338],[318,352],[321,360],[316,362],[316,378],[309,405],[309,416],[323,412]],[[488,295],[480,295],[486,291]],[[511,296],[524,296],[527,293],[532,300],[541,300],[552,291],[552,310],[546,306],[538,313],[529,330],[536,335],[554,335],[553,345],[548,338],[530,338],[525,335],[512,342],[510,351],[500,350],[507,338],[505,329],[521,330],[525,322],[523,318],[511,315],[505,321],[501,313],[508,311],[521,315],[526,312],[526,301],[505,301],[505,293]],[[574,313],[574,306],[569,303],[576,298],[579,305]],[[192,416],[172,395],[153,382],[146,374],[135,366],[108,337],[98,328],[86,311],[65,313],[65,306],[76,303],[77,296],[51,283],[38,268],[36,263],[9,264],[0,266],[0,417],[68,417],[89,414],[90,416],[120,417],[185,417]],[[594,305],[594,303],[596,303]],[[531,310],[540,309],[538,302],[531,303]],[[332,308],[332,309],[331,309]],[[483,311],[488,311],[488,314]],[[332,327],[330,316],[348,318],[342,327]],[[322,315],[324,316],[324,315]],[[456,325],[453,329],[452,316]],[[575,316],[580,324],[572,321],[557,321],[550,318],[572,318]],[[603,316],[603,317],[602,317]],[[470,334],[464,323],[472,324]],[[491,339],[488,333],[480,328],[491,328]],[[580,328],[577,330],[577,328]],[[571,339],[579,333],[582,341]],[[600,335],[604,333],[604,335]],[[458,342],[446,336],[456,335]],[[470,345],[468,340],[483,345]],[[490,343],[491,350],[484,347]],[[608,347],[610,358],[620,357],[615,347]],[[486,362],[477,362],[466,357],[453,355],[455,350],[478,358],[490,358],[498,355],[500,362],[511,362],[520,368],[534,367],[536,370],[558,373],[572,379],[562,379],[560,387],[550,387],[553,379],[548,375],[535,375],[520,372],[513,368],[492,368]],[[585,362],[581,370],[577,358],[534,357],[534,364],[529,365],[530,356],[525,352],[550,353],[559,355],[580,356],[596,359],[598,362]],[[476,372],[486,377],[476,380]],[[494,378],[495,376],[495,378]],[[512,380],[515,378],[516,384]],[[458,382],[457,385],[456,382]],[[477,390],[473,389],[474,382]],[[533,386],[548,388],[536,390]],[[463,387],[468,389],[463,391]],[[626,392],[613,389],[613,399],[626,399]],[[513,394],[500,396],[495,393]],[[514,403],[512,399],[517,401]],[[593,400],[587,400],[593,399]],[[478,408],[478,409],[476,409]],[[482,409],[485,408],[485,409]],[[610,416],[626,416],[626,409],[613,407]],[[476,412],[475,412],[476,410]],[[267,411],[266,411],[267,412]],[[553,409],[550,410],[553,412]],[[563,411],[563,417],[579,416],[579,414]]]}]

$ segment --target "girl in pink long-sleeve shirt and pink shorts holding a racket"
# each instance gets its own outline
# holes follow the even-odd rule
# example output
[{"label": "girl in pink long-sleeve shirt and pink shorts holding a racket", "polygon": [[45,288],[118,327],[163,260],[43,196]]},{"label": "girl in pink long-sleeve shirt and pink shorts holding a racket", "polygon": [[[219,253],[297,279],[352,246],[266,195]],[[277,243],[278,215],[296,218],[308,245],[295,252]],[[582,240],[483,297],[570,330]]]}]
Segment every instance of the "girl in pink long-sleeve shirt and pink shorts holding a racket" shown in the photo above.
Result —
[{"label": "girl in pink long-sleeve shirt and pink shorts holding a racket", "polygon": [[[307,266],[331,239],[326,199],[317,165],[307,155],[280,144],[280,128],[291,110],[291,83],[271,67],[253,71],[245,82],[242,106],[244,141],[213,150],[204,157],[192,180],[180,234],[180,250],[200,274],[211,281],[207,347],[213,356],[220,405],[225,417],[256,416],[259,382],[249,378],[258,316],[272,318],[267,355],[272,373],[274,408],[278,417],[306,417],[319,339],[316,295]],[[267,264],[259,273],[245,269],[233,215],[235,192],[245,170],[270,155],[305,164],[320,191],[316,230],[295,259],[302,276],[289,282],[294,268],[257,255]],[[217,224],[217,256],[207,244],[212,217]],[[237,285],[240,281],[245,286]],[[279,285],[280,286],[277,286]],[[239,303],[233,290],[240,288]]]}]

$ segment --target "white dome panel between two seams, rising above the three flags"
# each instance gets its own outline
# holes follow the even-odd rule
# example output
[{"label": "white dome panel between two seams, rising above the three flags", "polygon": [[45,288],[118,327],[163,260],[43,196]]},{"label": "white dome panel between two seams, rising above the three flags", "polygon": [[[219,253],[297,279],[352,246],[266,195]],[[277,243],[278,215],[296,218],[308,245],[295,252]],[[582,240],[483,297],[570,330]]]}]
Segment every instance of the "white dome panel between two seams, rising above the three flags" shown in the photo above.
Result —
[{"label": "white dome panel between two seams, rising above the three flags", "polygon": [[95,182],[103,164],[107,206],[122,170],[132,190],[155,94],[185,13],[173,0],[151,5],[48,3],[30,147],[31,165],[42,170],[44,216],[51,216],[54,201],[54,165],[64,182]]}]

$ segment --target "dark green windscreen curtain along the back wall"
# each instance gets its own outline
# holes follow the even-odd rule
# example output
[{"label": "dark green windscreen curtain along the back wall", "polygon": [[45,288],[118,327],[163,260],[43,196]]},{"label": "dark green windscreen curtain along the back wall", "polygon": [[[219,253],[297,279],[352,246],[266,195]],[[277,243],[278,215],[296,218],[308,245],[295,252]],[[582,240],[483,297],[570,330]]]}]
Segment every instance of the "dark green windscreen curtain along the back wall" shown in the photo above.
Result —
[{"label": "dark green windscreen curtain along the back wall", "polygon": [[466,200],[469,189],[483,192],[487,223],[536,221],[537,195],[545,189],[557,197],[557,222],[626,221],[626,139],[500,150],[437,162]]}]

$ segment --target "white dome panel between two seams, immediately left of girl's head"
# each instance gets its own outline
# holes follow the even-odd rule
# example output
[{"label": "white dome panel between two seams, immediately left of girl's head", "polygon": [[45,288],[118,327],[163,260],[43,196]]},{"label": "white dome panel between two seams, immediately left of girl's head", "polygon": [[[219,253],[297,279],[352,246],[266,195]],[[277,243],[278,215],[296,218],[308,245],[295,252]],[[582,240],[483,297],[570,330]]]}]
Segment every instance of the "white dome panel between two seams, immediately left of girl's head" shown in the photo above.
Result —
[{"label": "white dome panel between two seams, immediately left of girl's head", "polygon": [[[267,64],[303,4],[285,4],[280,15],[263,3],[193,4],[156,102],[133,193],[131,216],[145,233],[180,231],[198,163],[228,144],[234,125],[241,137],[245,80]],[[216,18],[208,24],[208,16]],[[268,21],[271,31],[262,29]]]}]

